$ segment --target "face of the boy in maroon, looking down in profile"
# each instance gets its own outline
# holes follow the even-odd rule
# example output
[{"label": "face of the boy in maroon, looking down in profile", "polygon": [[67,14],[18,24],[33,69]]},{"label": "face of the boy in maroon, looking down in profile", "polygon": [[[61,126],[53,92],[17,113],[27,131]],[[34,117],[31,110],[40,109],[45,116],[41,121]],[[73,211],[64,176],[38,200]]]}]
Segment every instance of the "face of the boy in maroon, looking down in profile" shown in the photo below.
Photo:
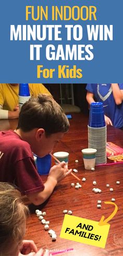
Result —
[{"label": "face of the boy in maroon, looking down in profile", "polygon": [[41,140],[34,145],[33,152],[39,157],[43,157],[52,152],[56,143],[58,143],[64,136],[64,132],[53,133],[46,137],[45,133],[41,135]]}]

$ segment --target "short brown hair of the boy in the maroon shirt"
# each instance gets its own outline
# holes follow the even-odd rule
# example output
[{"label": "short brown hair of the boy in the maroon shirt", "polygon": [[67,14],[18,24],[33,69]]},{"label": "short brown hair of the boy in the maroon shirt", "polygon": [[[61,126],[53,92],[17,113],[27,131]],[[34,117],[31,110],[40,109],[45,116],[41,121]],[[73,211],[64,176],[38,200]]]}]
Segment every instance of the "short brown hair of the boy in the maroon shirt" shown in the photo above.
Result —
[{"label": "short brown hair of the boy in the maroon shirt", "polygon": [[17,129],[19,128],[24,132],[43,128],[48,136],[56,132],[67,132],[69,121],[51,95],[39,94],[22,105]]}]

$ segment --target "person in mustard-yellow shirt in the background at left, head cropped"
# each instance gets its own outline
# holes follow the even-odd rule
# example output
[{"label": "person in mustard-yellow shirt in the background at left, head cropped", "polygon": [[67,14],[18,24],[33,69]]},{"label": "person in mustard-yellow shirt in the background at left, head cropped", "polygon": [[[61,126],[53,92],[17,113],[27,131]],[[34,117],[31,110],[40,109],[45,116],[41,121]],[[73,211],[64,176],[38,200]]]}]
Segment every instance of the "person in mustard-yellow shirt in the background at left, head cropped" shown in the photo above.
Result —
[{"label": "person in mustard-yellow shirt in the background at left, head cropped", "polygon": [[[42,83],[29,83],[30,95],[51,94]],[[19,83],[0,83],[0,119],[14,119],[19,116]]]}]

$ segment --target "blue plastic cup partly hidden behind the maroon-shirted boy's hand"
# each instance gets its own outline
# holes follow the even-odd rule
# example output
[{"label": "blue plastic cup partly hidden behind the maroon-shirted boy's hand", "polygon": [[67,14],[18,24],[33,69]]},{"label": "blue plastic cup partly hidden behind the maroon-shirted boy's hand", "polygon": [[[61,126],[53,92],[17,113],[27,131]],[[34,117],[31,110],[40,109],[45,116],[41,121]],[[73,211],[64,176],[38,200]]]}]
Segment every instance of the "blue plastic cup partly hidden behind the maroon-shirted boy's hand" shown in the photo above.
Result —
[{"label": "blue plastic cup partly hidden behind the maroon-shirted boy's hand", "polygon": [[51,155],[45,155],[44,157],[36,156],[36,167],[40,175],[47,175],[51,169]]}]

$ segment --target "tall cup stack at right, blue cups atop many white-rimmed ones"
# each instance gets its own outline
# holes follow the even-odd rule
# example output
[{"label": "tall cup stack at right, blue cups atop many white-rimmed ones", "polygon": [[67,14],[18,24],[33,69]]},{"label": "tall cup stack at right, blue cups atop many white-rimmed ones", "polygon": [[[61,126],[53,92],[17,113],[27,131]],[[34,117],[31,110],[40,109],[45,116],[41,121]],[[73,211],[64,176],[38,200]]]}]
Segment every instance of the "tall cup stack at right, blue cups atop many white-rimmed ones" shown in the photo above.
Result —
[{"label": "tall cup stack at right, blue cups atop many white-rimmed ones", "polygon": [[103,103],[93,102],[90,106],[88,142],[89,148],[96,149],[95,164],[106,164],[107,129],[104,119]]}]

